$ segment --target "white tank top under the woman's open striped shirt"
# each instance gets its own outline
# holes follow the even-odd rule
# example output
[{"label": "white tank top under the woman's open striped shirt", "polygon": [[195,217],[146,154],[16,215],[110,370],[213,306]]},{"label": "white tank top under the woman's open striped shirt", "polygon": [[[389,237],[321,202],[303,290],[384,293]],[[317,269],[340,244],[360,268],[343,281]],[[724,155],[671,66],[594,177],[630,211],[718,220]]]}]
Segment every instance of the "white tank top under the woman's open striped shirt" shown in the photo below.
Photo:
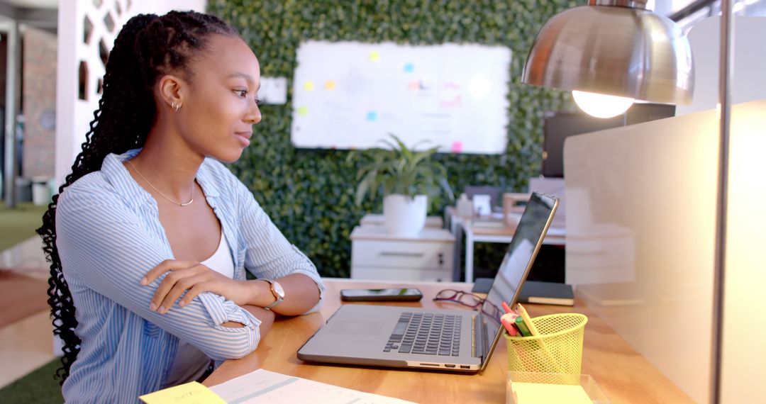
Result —
[{"label": "white tank top under the woman's open striped shirt", "polygon": [[[234,279],[234,260],[231,259],[229,244],[226,242],[223,229],[221,229],[221,241],[218,243],[218,249],[213,252],[210,258],[200,263],[221,275]],[[178,353],[175,354],[175,360],[173,360],[173,365],[170,368],[165,387],[178,386],[182,383],[198,380],[208,369],[209,364],[208,355],[184,340],[178,341]]]}]

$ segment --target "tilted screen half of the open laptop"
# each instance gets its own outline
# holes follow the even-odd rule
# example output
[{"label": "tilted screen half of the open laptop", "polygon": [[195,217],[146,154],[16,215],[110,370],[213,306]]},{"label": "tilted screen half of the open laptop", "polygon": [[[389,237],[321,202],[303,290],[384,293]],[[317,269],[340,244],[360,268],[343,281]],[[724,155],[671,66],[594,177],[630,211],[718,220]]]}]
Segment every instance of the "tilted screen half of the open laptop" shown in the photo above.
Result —
[{"label": "tilted screen half of the open laptop", "polygon": [[[494,349],[499,338],[500,316],[505,312],[502,310],[502,302],[506,301],[509,305],[516,304],[516,298],[519,298],[521,287],[529,274],[529,269],[532,268],[556,207],[558,207],[558,199],[555,197],[533,192],[532,197],[529,198],[506,256],[503,257],[492,283],[492,288],[489,289],[481,307],[486,330],[486,339],[483,344],[485,357],[489,350]],[[492,341],[489,338],[495,338],[495,340]]]}]

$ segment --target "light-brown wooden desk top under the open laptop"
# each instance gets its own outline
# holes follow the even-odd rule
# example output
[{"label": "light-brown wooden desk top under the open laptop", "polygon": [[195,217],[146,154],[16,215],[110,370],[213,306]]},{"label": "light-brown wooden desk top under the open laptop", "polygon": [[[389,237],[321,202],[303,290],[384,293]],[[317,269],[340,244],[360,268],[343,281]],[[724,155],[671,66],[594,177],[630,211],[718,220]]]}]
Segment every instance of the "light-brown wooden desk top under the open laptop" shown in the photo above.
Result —
[{"label": "light-brown wooden desk top under the open laptop", "polygon": [[[391,370],[383,368],[343,367],[304,363],[297,350],[325,322],[325,318],[341,305],[342,288],[379,288],[417,286],[424,293],[417,303],[396,305],[424,308],[461,308],[450,302],[434,302],[431,298],[443,288],[466,292],[465,283],[436,282],[358,282],[349,279],[325,279],[327,298],[322,311],[296,318],[277,320],[270,333],[260,341],[258,349],[240,360],[227,360],[205,380],[214,386],[258,368],[290,374],[335,386],[407,399],[414,402],[505,402],[506,342],[501,339],[483,373],[453,374],[428,370]],[[582,373],[590,374],[611,402],[692,402],[675,384],[637,353],[604,321],[576,303],[575,308],[527,305],[532,316],[576,311],[588,316],[585,327]]]}]

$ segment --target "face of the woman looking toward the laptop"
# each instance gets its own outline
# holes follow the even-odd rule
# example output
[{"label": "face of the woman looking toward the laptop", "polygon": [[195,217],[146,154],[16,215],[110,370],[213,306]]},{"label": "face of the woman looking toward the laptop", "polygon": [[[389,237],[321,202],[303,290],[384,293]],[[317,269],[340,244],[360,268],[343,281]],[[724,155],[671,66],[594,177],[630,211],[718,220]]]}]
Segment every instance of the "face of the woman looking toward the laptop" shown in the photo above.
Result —
[{"label": "face of the woman looking toward the laptop", "polygon": [[200,155],[236,161],[261,119],[258,59],[239,37],[213,35],[190,67],[191,83],[182,87],[183,104],[173,113],[182,138]]}]

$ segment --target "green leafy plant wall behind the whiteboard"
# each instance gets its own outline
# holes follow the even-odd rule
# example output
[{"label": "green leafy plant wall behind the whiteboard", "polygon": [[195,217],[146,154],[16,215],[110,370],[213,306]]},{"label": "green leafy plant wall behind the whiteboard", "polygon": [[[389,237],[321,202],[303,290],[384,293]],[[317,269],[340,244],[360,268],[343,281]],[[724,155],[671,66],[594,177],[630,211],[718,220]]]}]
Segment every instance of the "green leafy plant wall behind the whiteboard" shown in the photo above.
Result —
[{"label": "green leafy plant wall behind the whiteboard", "polygon": [[[522,191],[528,178],[539,173],[543,113],[571,109],[571,97],[522,84],[522,68],[542,24],[575,5],[571,0],[209,0],[208,11],[240,31],[260,60],[262,76],[287,77],[290,88],[302,41],[510,47],[506,152],[437,155],[459,194],[466,185]],[[355,206],[358,163],[345,161],[348,151],[293,148],[290,93],[285,105],[262,107],[264,119],[255,127],[252,145],[231,168],[322,275],[347,277],[349,234],[365,212],[379,213],[381,203]],[[436,206],[443,210],[448,203],[437,200]],[[492,254],[477,249],[476,265],[483,260],[496,266]]]}]

